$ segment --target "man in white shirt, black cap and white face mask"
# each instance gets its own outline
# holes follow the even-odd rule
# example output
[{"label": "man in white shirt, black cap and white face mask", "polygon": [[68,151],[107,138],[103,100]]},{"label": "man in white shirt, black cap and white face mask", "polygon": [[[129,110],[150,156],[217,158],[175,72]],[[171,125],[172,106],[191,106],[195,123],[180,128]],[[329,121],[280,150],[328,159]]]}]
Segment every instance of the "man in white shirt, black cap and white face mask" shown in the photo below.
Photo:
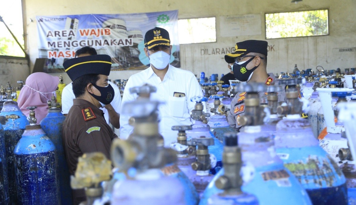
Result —
[{"label": "man in white shirt, black cap and white face mask", "polygon": [[[157,87],[155,93],[151,93],[151,100],[160,101],[159,105],[159,133],[164,138],[164,146],[177,141],[177,131],[171,128],[173,125],[191,125],[190,112],[194,109],[195,102],[190,98],[203,96],[201,87],[195,75],[187,70],[175,68],[169,64],[172,45],[169,33],[163,28],[155,27],[145,34],[145,53],[150,58],[151,66],[127,80],[124,95],[122,96],[121,110],[125,109],[125,103],[135,101],[136,94],[130,93],[131,87],[142,86],[148,83]],[[120,116],[120,138],[127,139],[133,131],[129,125],[129,115]]]}]

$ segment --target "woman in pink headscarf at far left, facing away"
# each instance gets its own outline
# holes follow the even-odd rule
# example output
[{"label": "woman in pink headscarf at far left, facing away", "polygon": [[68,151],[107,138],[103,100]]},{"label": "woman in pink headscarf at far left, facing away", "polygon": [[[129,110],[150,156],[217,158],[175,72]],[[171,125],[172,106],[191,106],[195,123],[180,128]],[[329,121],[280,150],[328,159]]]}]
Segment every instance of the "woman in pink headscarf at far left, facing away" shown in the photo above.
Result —
[{"label": "woman in pink headscarf at far left, facing away", "polygon": [[20,92],[17,104],[21,112],[27,117],[30,110],[28,106],[37,106],[35,109],[35,117],[37,124],[48,114],[48,103],[51,100],[52,93],[57,90],[59,77],[52,76],[44,72],[35,72],[29,75]]}]

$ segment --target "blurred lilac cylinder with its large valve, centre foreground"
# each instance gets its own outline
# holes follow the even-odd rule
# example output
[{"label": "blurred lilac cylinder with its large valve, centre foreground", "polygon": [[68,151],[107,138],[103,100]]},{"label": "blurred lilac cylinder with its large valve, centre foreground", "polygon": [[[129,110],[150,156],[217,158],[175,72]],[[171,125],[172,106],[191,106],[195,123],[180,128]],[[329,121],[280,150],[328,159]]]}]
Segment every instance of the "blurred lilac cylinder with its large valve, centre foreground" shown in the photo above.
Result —
[{"label": "blurred lilac cylinder with its large valve, centre foreground", "polygon": [[161,171],[167,164],[176,162],[177,155],[174,150],[162,146],[157,118],[152,116],[156,115],[158,105],[159,102],[147,99],[124,105],[123,114],[130,113],[135,118],[133,133],[127,140],[112,141],[111,160],[120,171],[134,168],[137,173],[115,183],[111,205],[187,204],[179,179],[164,176]]}]

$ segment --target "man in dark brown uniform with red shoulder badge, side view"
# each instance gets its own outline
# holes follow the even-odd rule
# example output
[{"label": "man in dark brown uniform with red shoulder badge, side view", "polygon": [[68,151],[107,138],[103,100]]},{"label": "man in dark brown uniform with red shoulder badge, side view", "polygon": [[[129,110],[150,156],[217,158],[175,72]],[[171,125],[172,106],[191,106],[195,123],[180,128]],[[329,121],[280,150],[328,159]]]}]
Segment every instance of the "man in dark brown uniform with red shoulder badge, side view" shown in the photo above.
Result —
[{"label": "man in dark brown uniform with red shoulder badge, side view", "polygon": [[[108,84],[111,68],[109,55],[89,55],[65,61],[63,67],[73,81],[73,106],[63,123],[63,148],[69,173],[74,175],[78,157],[83,153],[102,152],[110,159],[111,141],[117,135],[104,119],[100,107],[114,98]],[[85,201],[83,189],[73,190],[73,204]]]}]

